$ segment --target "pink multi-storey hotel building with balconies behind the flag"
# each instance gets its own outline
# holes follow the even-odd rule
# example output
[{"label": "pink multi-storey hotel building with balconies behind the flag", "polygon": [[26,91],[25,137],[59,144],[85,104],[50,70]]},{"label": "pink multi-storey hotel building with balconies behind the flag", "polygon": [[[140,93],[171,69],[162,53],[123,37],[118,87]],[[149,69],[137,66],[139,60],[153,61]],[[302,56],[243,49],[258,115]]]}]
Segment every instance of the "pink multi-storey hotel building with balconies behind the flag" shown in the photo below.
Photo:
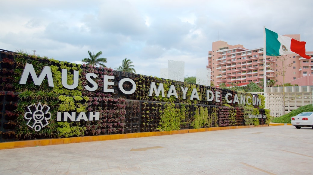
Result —
[{"label": "pink multi-storey hotel building with balconies behind the flag", "polygon": [[[284,35],[295,40],[300,40],[300,34]],[[298,84],[299,86],[313,85],[313,51],[307,51],[306,59],[297,54],[287,55],[285,83]],[[212,43],[212,51],[208,52],[208,65],[211,68],[211,80],[215,86],[225,83],[238,83],[238,86],[258,83],[264,78],[263,47],[246,49],[243,45],[228,45],[225,41]],[[281,85],[283,77],[275,71],[282,71],[282,61],[276,56],[266,56],[266,80],[275,80],[276,85]],[[281,82],[281,83],[280,83]],[[211,83],[212,84],[212,83]]]}]

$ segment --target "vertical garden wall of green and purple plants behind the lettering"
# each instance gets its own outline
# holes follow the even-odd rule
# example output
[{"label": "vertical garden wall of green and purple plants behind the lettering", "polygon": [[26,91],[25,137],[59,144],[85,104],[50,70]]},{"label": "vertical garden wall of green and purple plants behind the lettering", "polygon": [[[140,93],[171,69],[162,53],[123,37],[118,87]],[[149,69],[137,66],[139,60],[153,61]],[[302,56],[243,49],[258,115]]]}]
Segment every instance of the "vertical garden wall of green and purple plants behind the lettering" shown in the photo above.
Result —
[{"label": "vertical garden wall of green and purple plants behind the lettering", "polygon": [[[114,71],[111,68],[68,63],[23,53],[1,51],[0,58],[0,142],[43,138],[64,138],[88,135],[126,134],[136,132],[170,131],[190,128],[224,127],[239,125],[269,124],[269,111],[264,109],[264,97],[261,95],[207,87],[185,82],[177,82],[151,76]],[[49,86],[47,77],[40,85],[35,85],[31,76],[26,84],[20,84],[26,64],[32,64],[37,76],[45,66],[51,68],[54,87]],[[67,70],[67,84],[72,85],[74,71],[79,72],[78,86],[67,89],[62,85],[62,69]],[[98,85],[95,91],[87,81],[87,73],[95,73],[93,81]],[[104,76],[113,76],[108,86],[114,92],[103,92]],[[119,81],[130,78],[136,84],[136,91],[124,94],[119,89]],[[163,84],[165,97],[153,93],[149,96],[151,83],[156,87]],[[167,92],[175,87],[177,98]],[[124,90],[131,91],[131,82],[121,84]],[[181,87],[188,87],[186,98]],[[199,100],[193,98],[192,89],[196,89]],[[220,102],[215,98],[207,101],[207,90],[219,92]],[[258,97],[259,105],[228,103],[227,93],[233,94],[228,100],[234,100],[234,94],[245,97]],[[44,127],[31,128],[30,111],[38,113],[38,120]],[[57,121],[58,112],[88,113],[99,112],[97,121]],[[249,118],[249,114],[266,115],[265,118]],[[47,120],[42,120],[40,117]]]}]

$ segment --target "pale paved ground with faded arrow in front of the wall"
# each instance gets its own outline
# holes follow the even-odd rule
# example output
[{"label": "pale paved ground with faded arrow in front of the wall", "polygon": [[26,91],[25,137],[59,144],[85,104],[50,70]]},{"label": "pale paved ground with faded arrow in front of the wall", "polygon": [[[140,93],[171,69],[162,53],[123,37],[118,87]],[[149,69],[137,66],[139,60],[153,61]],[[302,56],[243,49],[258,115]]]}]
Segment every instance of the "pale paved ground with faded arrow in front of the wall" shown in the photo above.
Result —
[{"label": "pale paved ground with faded arrow in front of the wall", "polygon": [[313,174],[313,130],[282,125],[7,149],[0,174]]}]

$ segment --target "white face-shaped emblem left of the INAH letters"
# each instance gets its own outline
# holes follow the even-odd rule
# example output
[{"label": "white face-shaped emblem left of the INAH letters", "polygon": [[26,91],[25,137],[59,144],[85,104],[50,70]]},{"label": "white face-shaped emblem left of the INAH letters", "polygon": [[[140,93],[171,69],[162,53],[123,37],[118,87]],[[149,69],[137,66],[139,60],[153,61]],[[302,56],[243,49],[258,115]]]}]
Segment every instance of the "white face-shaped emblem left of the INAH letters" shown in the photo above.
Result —
[{"label": "white face-shaped emblem left of the INAH letters", "polygon": [[38,105],[35,103],[29,105],[27,113],[24,114],[24,118],[28,119],[26,125],[30,128],[33,128],[35,131],[40,131],[41,128],[47,126],[48,120],[51,119],[51,113],[49,112],[50,107],[45,105],[41,105],[39,102]]}]

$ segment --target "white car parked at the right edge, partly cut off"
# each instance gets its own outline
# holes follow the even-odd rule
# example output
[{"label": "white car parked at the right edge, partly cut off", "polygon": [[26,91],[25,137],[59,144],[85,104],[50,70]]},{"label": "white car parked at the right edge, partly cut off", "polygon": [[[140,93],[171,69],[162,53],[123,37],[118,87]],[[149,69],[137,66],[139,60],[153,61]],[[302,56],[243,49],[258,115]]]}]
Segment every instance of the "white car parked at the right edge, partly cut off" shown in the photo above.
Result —
[{"label": "white car parked at the right edge, partly cut off", "polygon": [[313,112],[301,112],[300,114],[291,117],[291,124],[297,129],[301,127],[313,128]]}]

